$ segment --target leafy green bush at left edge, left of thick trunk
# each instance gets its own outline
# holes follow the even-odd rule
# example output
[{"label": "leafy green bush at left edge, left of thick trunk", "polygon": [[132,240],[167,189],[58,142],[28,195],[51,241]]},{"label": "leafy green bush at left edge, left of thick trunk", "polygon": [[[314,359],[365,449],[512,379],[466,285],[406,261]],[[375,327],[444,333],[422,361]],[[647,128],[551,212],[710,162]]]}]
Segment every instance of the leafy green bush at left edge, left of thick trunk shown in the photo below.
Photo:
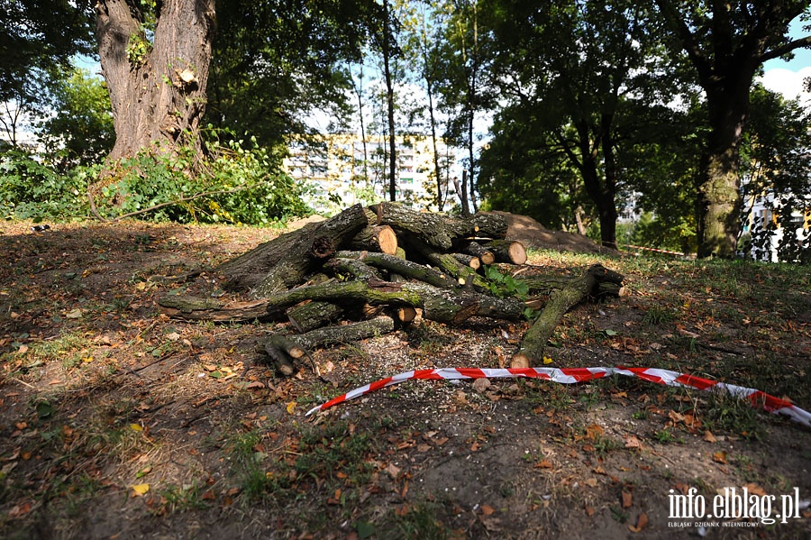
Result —
[{"label": "leafy green bush at left edge, left of thick trunk", "polygon": [[0,217],[39,222],[86,215],[85,173],[59,174],[24,151],[5,152],[0,157]]}]

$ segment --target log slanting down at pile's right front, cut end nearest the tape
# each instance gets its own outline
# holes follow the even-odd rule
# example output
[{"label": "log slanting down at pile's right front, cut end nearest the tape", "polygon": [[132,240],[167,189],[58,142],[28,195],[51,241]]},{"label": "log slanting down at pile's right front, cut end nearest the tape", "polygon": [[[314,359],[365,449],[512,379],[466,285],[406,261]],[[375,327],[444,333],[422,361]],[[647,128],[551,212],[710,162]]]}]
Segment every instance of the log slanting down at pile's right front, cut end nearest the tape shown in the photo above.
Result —
[{"label": "log slanting down at pile's right front, cut end nearest the tape", "polygon": [[513,356],[511,367],[531,368],[542,363],[543,349],[560,325],[563,315],[592,294],[600,283],[621,284],[623,277],[613,270],[596,264],[578,279],[572,279],[564,288],[551,293],[541,315],[524,334],[524,341]]}]

